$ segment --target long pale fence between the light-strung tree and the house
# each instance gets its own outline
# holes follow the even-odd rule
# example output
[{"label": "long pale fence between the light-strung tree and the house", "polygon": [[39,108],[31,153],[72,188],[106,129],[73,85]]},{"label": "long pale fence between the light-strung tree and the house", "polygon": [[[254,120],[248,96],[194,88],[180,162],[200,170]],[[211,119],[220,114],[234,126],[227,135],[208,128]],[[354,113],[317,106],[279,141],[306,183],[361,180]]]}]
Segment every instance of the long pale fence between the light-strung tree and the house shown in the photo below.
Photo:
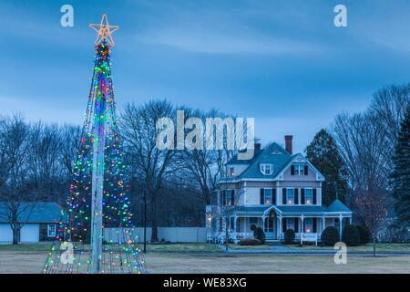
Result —
[{"label": "long pale fence between the light-strung tree and the house", "polygon": [[[147,227],[148,242],[151,239],[151,233],[151,227]],[[126,234],[125,228],[104,228],[104,238],[108,241],[127,241],[135,239],[136,236],[139,242],[144,241],[144,228],[132,228],[130,236]],[[172,243],[205,243],[207,232],[205,227],[158,227],[158,239]]]}]

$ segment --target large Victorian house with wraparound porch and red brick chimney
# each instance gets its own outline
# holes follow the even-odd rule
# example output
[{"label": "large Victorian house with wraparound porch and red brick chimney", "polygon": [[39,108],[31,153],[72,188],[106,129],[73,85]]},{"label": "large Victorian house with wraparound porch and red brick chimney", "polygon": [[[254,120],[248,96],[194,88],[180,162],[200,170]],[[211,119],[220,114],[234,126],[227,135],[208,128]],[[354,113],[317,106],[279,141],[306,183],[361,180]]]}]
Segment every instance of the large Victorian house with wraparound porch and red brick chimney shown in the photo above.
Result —
[{"label": "large Victorian house with wraparound porch and red brick chimney", "polygon": [[301,153],[292,154],[292,136],[285,136],[285,145],[284,150],[276,143],[266,149],[255,144],[251,160],[234,157],[226,164],[215,202],[206,210],[209,241],[224,240],[226,222],[235,243],[253,237],[256,226],[273,242],[282,241],[287,229],[296,238],[309,234],[320,240],[325,227],[342,233],[351,223],[352,211],[339,200],[323,205],[324,177]]}]

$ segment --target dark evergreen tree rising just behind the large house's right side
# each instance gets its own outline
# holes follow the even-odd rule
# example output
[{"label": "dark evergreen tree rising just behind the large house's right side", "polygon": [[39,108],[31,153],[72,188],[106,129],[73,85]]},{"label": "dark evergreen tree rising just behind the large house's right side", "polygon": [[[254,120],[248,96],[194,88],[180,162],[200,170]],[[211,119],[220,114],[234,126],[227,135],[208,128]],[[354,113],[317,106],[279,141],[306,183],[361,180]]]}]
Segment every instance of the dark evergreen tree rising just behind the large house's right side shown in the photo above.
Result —
[{"label": "dark evergreen tree rising just behind the large house's right side", "polygon": [[320,130],[304,152],[306,158],[325,177],[322,186],[323,203],[329,205],[336,197],[344,202],[344,194],[347,192],[346,172],[333,137],[326,130]]}]

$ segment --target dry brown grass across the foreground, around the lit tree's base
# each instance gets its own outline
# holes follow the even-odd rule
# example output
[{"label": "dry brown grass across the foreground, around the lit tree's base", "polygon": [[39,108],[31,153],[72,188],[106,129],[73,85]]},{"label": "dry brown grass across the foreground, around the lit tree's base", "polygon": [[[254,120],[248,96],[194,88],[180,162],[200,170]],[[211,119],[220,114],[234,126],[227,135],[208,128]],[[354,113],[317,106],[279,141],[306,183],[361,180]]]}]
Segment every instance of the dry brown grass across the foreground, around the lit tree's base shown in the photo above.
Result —
[{"label": "dry brown grass across the foreground, around the lit tree's base", "polygon": [[[149,273],[410,273],[410,255],[349,255],[335,265],[333,255],[231,255],[149,253]],[[0,250],[0,273],[41,273],[45,251]]]}]

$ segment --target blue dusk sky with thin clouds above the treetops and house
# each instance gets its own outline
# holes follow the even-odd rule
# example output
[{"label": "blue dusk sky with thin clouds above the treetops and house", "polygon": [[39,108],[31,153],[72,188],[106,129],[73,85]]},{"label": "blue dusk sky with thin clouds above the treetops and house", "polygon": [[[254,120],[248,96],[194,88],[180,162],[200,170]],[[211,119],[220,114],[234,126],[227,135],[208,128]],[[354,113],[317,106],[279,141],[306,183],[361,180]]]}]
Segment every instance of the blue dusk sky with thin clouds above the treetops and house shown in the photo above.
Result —
[{"label": "blue dusk sky with thin clouds above the treetops and house", "polygon": [[[74,26],[60,26],[60,7]],[[347,6],[348,27],[333,8]],[[254,117],[263,143],[303,151],[343,110],[410,77],[410,1],[21,1],[0,3],[0,114],[80,124],[95,32],[108,14],[118,108],[170,99]]]}]

